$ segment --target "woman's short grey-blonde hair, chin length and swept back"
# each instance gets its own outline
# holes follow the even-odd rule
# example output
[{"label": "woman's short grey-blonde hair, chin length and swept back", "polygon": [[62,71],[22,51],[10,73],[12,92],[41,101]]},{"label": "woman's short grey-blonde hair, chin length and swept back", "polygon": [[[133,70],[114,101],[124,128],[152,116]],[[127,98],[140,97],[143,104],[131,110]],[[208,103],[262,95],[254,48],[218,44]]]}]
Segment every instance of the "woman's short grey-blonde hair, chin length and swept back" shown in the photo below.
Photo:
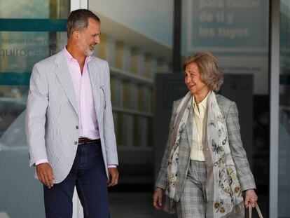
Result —
[{"label": "woman's short grey-blonde hair, chin length and swept back", "polygon": [[184,61],[184,70],[191,63],[198,65],[202,82],[207,84],[210,90],[218,92],[223,85],[223,74],[219,70],[219,62],[216,57],[208,52],[188,56]]}]

